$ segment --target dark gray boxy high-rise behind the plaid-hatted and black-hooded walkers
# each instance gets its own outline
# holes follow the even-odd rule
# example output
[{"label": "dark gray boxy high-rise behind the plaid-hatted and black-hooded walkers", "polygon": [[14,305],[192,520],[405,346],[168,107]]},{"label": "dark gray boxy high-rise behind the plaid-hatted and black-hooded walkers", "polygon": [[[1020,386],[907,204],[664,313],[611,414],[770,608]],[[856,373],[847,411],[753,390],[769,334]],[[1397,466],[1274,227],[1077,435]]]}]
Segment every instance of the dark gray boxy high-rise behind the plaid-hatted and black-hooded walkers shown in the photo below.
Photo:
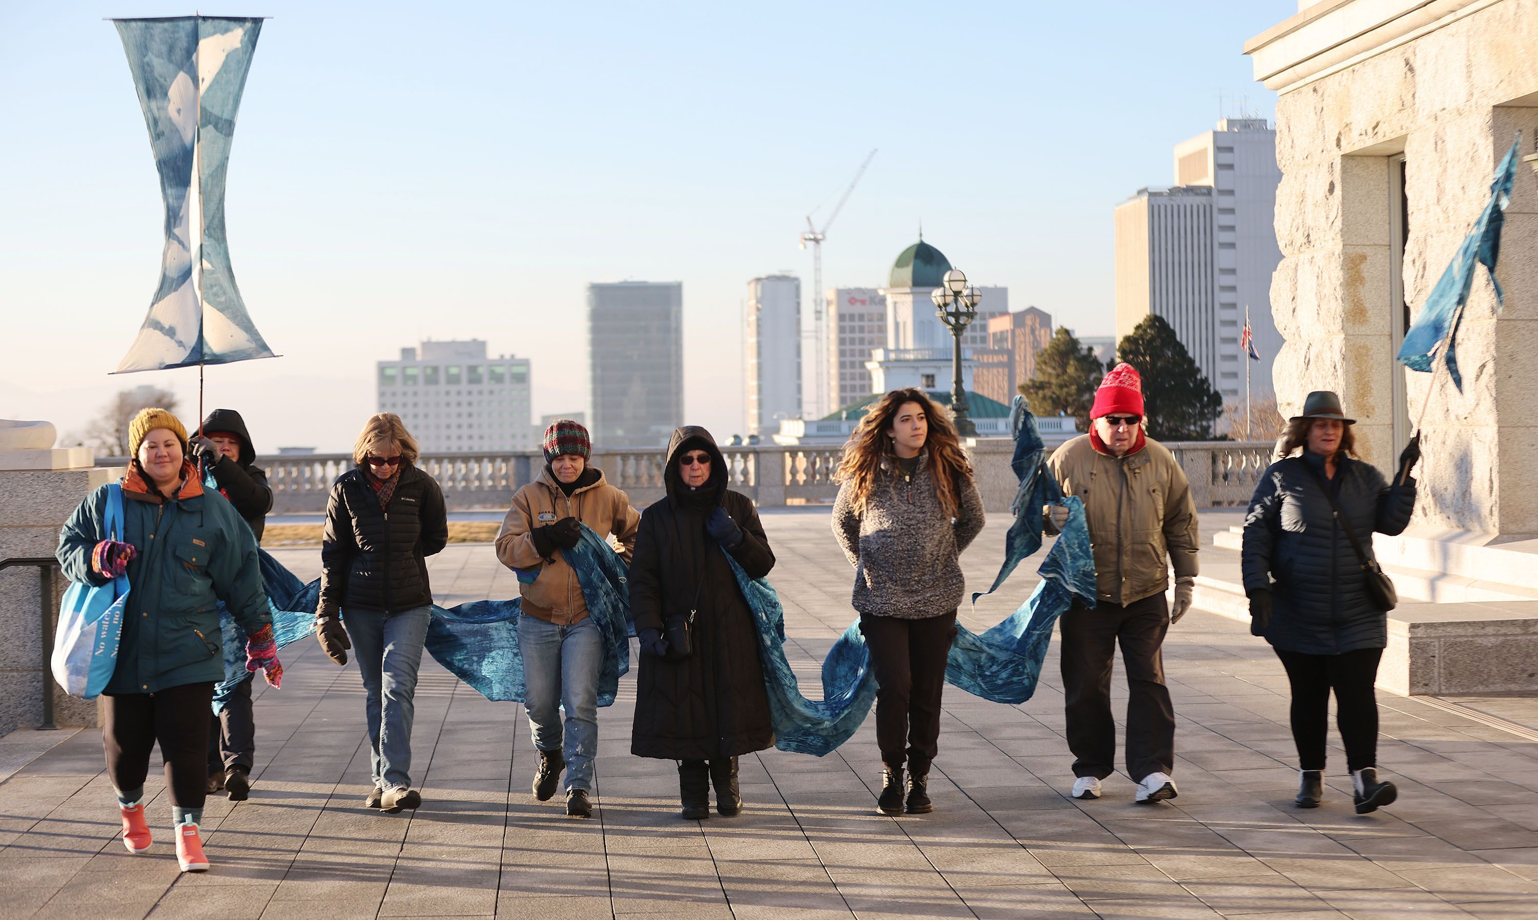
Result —
[{"label": "dark gray boxy high-rise behind the plaid-hatted and black-hooded walkers", "polygon": [[666,445],[683,423],[683,282],[589,283],[588,355],[594,442]]}]

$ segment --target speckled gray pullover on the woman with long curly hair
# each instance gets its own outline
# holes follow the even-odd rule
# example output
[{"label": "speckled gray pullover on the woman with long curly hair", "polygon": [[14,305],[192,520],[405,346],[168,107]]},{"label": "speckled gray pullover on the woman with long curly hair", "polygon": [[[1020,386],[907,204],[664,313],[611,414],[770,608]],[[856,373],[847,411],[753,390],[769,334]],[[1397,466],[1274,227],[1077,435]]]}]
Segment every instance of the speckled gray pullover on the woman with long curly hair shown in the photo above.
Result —
[{"label": "speckled gray pullover on the woman with long curly hair", "polygon": [[957,557],[983,529],[983,498],[972,477],[960,477],[958,517],[950,520],[929,475],[929,452],[912,475],[892,458],[855,514],[854,488],[844,483],[834,503],[834,535],[855,566],[854,608],[874,617],[923,620],[961,606],[966,578]]}]

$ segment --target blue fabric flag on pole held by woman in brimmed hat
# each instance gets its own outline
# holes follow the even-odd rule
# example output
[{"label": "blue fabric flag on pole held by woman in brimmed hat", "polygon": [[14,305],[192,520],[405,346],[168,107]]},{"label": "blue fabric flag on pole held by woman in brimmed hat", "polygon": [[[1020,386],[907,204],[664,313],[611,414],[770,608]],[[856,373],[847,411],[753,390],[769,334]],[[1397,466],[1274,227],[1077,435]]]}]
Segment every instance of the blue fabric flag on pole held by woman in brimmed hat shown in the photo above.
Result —
[{"label": "blue fabric flag on pole held by woman in brimmed hat", "polygon": [[1490,274],[1490,286],[1495,288],[1496,309],[1506,302],[1500,282],[1495,280],[1495,262],[1501,254],[1501,226],[1506,223],[1506,205],[1512,197],[1512,182],[1516,177],[1516,145],[1521,143],[1521,132],[1512,142],[1512,149],[1506,151],[1495,180],[1490,183],[1490,200],[1484,205],[1480,220],[1458,246],[1447,269],[1443,271],[1430,297],[1421,305],[1415,315],[1415,323],[1404,334],[1404,345],[1400,348],[1400,363],[1412,371],[1432,371],[1438,349],[1447,363],[1447,374],[1452,375],[1453,386],[1463,392],[1463,374],[1458,371],[1456,340],[1458,326],[1463,323],[1463,308],[1469,302],[1469,291],[1473,288],[1473,268],[1483,265]]}]

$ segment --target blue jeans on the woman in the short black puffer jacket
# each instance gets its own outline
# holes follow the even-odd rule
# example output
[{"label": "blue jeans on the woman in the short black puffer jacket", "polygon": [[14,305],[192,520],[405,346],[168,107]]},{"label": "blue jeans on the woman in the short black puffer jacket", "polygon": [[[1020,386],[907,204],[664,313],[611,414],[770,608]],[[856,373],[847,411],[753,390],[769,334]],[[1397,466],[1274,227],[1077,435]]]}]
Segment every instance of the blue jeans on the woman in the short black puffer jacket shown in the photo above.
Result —
[{"label": "blue jeans on the woman in the short black puffer jacket", "polygon": [[412,695],[431,620],[432,608],[341,611],[363,672],[369,768],[377,789],[411,788],[411,720],[417,714]]}]

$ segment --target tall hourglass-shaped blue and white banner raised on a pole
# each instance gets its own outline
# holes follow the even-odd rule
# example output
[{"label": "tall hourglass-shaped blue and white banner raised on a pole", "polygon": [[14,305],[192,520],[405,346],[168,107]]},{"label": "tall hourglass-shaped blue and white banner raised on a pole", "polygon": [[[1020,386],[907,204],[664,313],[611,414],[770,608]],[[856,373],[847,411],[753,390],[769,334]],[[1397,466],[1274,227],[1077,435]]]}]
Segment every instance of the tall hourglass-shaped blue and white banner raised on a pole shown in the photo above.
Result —
[{"label": "tall hourglass-shaped blue and white banner raised on a pole", "polygon": [[[160,283],[115,372],[274,357],[240,298],[225,234],[229,145],[261,20],[112,22],[134,74],[166,206]],[[198,254],[192,252],[194,165],[201,205]]]}]

